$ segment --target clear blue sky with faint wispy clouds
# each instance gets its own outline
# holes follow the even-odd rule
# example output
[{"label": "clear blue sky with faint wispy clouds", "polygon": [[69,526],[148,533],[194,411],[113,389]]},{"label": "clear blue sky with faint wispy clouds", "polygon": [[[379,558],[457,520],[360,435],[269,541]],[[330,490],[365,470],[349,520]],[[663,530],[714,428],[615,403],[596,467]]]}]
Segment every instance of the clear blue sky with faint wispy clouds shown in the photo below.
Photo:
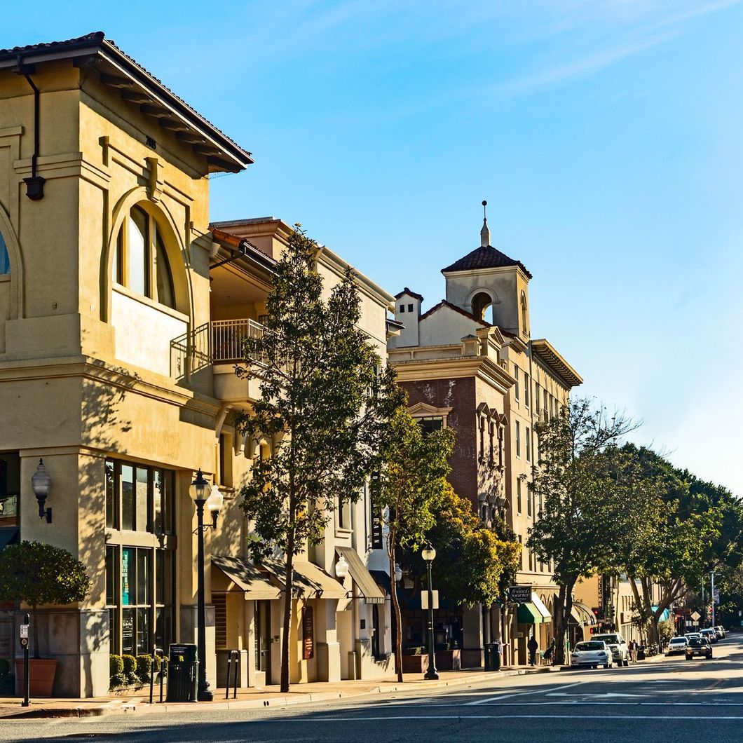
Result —
[{"label": "clear blue sky with faint wispy clouds", "polygon": [[212,218],[300,221],[395,293],[492,242],[532,332],[634,435],[743,494],[743,4],[7,4],[0,48],[103,30],[256,164]]}]

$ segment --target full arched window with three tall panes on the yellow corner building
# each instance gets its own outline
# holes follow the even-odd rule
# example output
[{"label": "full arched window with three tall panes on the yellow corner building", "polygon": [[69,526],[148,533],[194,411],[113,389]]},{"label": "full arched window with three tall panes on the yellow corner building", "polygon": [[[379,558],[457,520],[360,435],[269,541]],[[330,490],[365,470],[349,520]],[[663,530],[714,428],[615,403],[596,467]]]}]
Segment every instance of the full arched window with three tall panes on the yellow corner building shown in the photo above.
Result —
[{"label": "full arched window with three tall panes on the yellow corner building", "polygon": [[111,267],[114,282],[175,309],[173,276],[163,236],[155,217],[132,207],[123,221]]}]

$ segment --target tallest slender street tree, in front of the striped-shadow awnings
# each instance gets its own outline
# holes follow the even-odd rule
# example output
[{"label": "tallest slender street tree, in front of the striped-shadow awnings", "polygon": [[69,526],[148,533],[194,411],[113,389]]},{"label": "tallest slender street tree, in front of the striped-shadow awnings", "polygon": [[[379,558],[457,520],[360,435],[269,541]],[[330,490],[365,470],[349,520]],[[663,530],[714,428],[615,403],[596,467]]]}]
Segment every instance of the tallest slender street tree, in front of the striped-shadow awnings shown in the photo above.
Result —
[{"label": "tallest slender street tree, in front of the striped-shadow awnings", "polygon": [[317,244],[296,225],[276,265],[265,332],[244,341],[245,364],[261,397],[238,425],[253,442],[272,442],[255,456],[241,489],[254,521],[251,550],[286,560],[281,689],[289,689],[293,564],[322,541],[337,504],[358,499],[377,462],[401,393],[392,371],[358,328],[361,308],[348,270],[323,299]]}]

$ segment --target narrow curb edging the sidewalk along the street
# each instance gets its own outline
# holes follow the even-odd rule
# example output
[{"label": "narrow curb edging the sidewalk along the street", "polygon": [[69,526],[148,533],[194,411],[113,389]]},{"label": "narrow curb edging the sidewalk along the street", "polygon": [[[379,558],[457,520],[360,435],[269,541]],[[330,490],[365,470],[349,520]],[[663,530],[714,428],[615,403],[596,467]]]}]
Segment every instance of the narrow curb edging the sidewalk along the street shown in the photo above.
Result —
[{"label": "narrow curb edging the sidewalk along the street", "polygon": [[[525,676],[537,673],[549,673],[552,666],[539,666],[534,669],[509,669],[507,671],[490,671],[473,674],[468,677],[452,679],[439,679],[439,681],[408,681],[403,684],[395,684],[392,687],[378,686],[359,692],[314,692],[302,694],[302,692],[291,696],[277,696],[268,699],[250,699],[241,701],[239,699],[210,702],[206,707],[204,704],[178,702],[176,704],[149,704],[149,701],[136,702],[134,704],[115,704],[108,702],[91,707],[69,707],[67,709],[54,709],[39,707],[36,710],[29,709],[20,712],[12,712],[8,715],[0,715],[0,720],[19,720],[34,718],[65,718],[65,717],[101,717],[111,714],[153,714],[153,713],[188,713],[204,712],[205,709],[215,712],[227,710],[261,710],[276,707],[289,707],[296,704],[310,704],[318,701],[332,701],[336,699],[349,699],[354,697],[369,696],[371,694],[389,694],[403,691],[418,691],[428,689],[445,689],[447,687],[473,684],[479,681],[487,681],[491,678],[504,678],[506,676]],[[557,670],[555,668],[554,670]]]}]

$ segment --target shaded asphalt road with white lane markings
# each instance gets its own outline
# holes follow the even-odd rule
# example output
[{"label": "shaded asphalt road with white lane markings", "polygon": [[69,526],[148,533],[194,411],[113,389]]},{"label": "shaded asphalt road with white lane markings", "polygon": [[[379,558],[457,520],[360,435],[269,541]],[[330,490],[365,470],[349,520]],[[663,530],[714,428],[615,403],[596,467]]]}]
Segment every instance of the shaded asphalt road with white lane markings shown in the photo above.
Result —
[{"label": "shaded asphalt road with white lane markings", "polygon": [[283,710],[7,721],[0,740],[116,742],[513,743],[743,741],[743,637],[712,661],[494,678],[469,687],[373,695]]}]

